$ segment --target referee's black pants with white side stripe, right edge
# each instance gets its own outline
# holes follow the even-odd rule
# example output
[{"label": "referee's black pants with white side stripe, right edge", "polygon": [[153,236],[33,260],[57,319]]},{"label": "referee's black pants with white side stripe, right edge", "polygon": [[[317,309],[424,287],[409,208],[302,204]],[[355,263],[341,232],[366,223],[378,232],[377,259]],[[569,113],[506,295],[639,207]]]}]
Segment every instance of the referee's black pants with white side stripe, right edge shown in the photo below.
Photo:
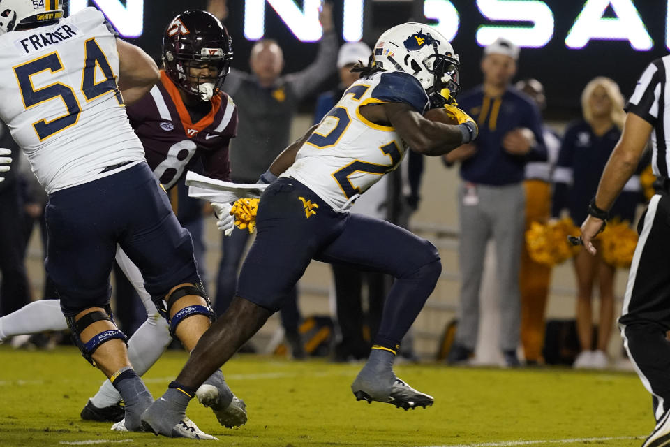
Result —
[{"label": "referee's black pants with white side stripe, right edge", "polygon": [[660,420],[670,409],[670,196],[653,196],[638,232],[619,325]]}]

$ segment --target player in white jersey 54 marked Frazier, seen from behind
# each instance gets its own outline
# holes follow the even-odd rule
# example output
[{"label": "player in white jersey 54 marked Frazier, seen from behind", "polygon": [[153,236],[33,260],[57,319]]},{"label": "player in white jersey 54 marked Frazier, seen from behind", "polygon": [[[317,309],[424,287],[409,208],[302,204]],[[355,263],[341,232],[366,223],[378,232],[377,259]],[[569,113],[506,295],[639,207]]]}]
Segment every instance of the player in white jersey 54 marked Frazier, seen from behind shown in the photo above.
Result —
[{"label": "player in white jersey 54 marked Frazier, seen from behind", "polygon": [[[149,92],[158,68],[95,8],[66,19],[59,0],[1,0],[0,10],[0,119],[49,193],[47,272],[82,355],[123,397],[124,428],[140,430],[152,399],[110,312],[117,244],[187,348],[212,316],[191,237],[126,117],[125,104]],[[228,390],[220,372],[208,381]],[[189,423],[176,430],[193,434]]]}]

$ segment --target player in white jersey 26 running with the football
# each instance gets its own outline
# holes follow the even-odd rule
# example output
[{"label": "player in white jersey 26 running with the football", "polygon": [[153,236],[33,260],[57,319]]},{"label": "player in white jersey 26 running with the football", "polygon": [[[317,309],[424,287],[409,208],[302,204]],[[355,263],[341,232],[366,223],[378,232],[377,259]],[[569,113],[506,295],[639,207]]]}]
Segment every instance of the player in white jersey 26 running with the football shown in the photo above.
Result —
[{"label": "player in white jersey 26 running with the football", "polygon": [[[396,281],[371,354],[352,384],[358,400],[409,409],[433,398],[398,379],[397,349],[442,270],[437,249],[386,221],[347,212],[355,198],[400,163],[409,147],[440,156],[477,135],[468,121],[424,119],[457,90],[459,59],[444,36],[406,23],[380,36],[362,78],[262,176],[271,182],[258,205],[258,235],[244,262],[237,296],[202,336],[174,383],[195,390],[267,321],[312,259],[392,274]],[[280,178],[277,178],[280,177]],[[274,182],[272,182],[274,180]],[[190,397],[174,389],[142,416],[152,431],[174,436]]]}]

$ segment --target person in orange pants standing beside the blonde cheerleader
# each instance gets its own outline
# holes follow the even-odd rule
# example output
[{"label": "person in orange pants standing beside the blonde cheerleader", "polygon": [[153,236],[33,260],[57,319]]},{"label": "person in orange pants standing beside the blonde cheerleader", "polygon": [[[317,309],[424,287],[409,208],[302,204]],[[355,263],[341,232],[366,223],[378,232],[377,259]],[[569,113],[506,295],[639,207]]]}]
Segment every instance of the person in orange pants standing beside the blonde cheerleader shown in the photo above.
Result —
[{"label": "person in orange pants standing beside the blonde cheerleader", "polygon": [[[539,110],[546,108],[544,86],[536,79],[516,82],[516,89],[528,94]],[[549,128],[542,126],[542,136],[546,146],[546,161],[526,163],[526,226],[524,233],[533,222],[547,223],[551,216],[551,177],[558,161],[560,138]],[[526,238],[521,251],[521,346],[526,365],[537,365],[544,345],[544,309],[549,295],[551,267],[536,263],[528,256]]]}]

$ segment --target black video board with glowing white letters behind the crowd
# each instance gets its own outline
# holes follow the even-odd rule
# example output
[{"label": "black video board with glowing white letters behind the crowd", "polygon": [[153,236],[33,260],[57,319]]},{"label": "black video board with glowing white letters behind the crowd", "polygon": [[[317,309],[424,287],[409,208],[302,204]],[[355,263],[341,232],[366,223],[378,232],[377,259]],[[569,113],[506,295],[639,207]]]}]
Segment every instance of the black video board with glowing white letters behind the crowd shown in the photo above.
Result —
[{"label": "black video board with glowing white letters behind the crowd", "polygon": [[[630,94],[644,66],[670,49],[670,0],[332,1],[341,41],[373,44],[385,29],[411,19],[435,27],[461,55],[464,89],[481,81],[482,47],[509,38],[525,49],[518,77],[544,82],[549,104],[558,108],[578,108],[575,98],[597,75],[613,78]],[[205,8],[207,0],[70,0],[73,12],[89,5],[158,59],[166,24],[184,8]],[[286,56],[285,72],[304,68],[323,32],[319,5],[320,0],[228,0],[224,23],[233,39],[233,66],[248,70],[253,43],[274,38]]]}]

